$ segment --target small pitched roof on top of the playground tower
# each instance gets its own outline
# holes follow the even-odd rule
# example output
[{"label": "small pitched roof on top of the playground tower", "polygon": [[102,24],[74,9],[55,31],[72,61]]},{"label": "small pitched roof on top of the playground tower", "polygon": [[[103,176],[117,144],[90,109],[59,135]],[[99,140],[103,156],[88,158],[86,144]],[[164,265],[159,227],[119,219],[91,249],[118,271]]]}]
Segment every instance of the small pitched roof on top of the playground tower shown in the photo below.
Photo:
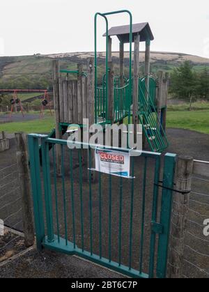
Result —
[{"label": "small pitched roof on top of the playground tower", "polygon": [[[109,29],[108,36],[117,36],[120,41],[123,41],[123,43],[129,43],[129,33],[130,25],[114,26]],[[136,36],[137,33],[140,35],[140,42],[154,40],[154,36],[148,22],[132,24],[132,42],[134,42],[134,36]],[[106,33],[104,33],[103,36],[106,36]]]}]

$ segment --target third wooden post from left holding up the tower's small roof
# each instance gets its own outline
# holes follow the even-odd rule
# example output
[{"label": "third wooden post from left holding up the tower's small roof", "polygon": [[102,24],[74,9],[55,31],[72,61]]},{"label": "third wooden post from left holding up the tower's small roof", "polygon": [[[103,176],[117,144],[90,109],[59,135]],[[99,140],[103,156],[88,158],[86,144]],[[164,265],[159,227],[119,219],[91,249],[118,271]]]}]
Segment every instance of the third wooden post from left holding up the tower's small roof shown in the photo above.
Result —
[{"label": "third wooden post from left holding up the tower's small roof", "polygon": [[140,36],[138,33],[137,36],[134,36],[133,125],[135,140],[137,137],[137,125],[139,124],[139,41]]}]

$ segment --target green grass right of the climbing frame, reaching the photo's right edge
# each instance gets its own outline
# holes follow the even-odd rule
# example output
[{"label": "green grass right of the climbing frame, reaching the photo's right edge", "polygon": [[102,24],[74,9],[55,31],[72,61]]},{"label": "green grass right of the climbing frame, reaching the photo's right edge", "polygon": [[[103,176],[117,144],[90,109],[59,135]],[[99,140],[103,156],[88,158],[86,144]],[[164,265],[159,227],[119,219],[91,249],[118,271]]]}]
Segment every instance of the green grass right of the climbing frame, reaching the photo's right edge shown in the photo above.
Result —
[{"label": "green grass right of the climbing frame, reaching the photo's right edge", "polygon": [[209,109],[167,112],[167,128],[182,128],[209,134]]}]

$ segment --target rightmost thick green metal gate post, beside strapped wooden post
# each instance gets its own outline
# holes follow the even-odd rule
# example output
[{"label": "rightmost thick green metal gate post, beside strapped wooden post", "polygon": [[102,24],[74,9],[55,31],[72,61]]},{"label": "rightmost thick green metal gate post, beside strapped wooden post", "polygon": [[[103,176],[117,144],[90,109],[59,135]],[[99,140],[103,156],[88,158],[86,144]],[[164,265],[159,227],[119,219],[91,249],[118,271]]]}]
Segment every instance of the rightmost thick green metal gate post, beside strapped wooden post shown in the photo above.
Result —
[{"label": "rightmost thick green metal gate post, beside strapped wooden post", "polygon": [[157,277],[167,276],[167,257],[171,223],[171,209],[173,199],[173,179],[175,174],[176,155],[167,153],[164,157],[164,174],[162,203],[160,213],[160,224],[163,226],[163,233],[159,236],[157,250]]}]

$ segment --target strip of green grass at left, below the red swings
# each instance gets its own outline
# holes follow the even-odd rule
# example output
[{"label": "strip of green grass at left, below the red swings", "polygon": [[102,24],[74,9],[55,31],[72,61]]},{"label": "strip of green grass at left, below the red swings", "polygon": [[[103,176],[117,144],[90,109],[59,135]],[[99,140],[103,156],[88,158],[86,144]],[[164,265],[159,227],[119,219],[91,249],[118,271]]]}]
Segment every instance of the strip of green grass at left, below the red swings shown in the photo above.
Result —
[{"label": "strip of green grass at left, below the red swings", "polygon": [[0,131],[8,133],[26,132],[26,133],[49,133],[54,128],[54,116],[46,116],[43,119],[34,121],[25,121],[17,123],[0,124]]}]

